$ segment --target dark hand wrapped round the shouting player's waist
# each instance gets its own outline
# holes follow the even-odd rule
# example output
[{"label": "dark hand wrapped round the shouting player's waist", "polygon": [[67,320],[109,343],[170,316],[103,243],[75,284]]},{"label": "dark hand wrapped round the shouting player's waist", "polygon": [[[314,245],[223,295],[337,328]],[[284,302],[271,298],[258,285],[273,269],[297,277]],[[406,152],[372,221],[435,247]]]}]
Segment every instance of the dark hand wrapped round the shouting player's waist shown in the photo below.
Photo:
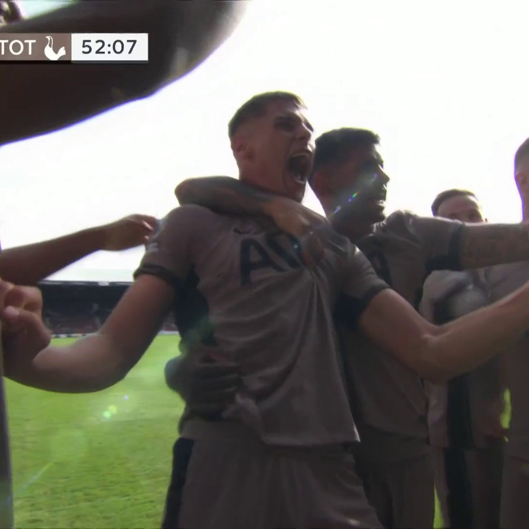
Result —
[{"label": "dark hand wrapped round the shouting player's waist", "polygon": [[241,386],[238,366],[218,358],[217,348],[199,345],[193,353],[169,360],[167,385],[199,416],[211,418],[233,403]]}]

